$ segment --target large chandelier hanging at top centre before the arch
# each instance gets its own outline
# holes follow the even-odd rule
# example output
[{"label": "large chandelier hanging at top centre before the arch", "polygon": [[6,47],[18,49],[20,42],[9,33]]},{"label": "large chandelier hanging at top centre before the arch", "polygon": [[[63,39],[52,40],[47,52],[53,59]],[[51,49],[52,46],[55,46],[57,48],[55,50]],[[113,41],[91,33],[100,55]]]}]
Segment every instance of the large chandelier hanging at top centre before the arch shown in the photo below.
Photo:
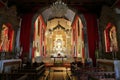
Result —
[{"label": "large chandelier hanging at top centre before the arch", "polygon": [[56,17],[64,17],[67,13],[67,5],[61,0],[57,0],[51,5],[52,15]]}]

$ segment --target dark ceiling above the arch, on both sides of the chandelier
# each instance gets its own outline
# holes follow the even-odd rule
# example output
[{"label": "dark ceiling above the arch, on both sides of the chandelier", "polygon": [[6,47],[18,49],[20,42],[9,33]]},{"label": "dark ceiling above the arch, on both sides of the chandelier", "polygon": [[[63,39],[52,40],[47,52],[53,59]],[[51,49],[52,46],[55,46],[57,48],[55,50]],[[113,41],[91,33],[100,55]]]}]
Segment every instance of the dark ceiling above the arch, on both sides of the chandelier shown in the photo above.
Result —
[{"label": "dark ceiling above the arch, on both sides of the chandelier", "polygon": [[[38,8],[50,6],[57,0],[2,0],[7,2],[8,6],[16,5],[18,13],[36,12]],[[86,11],[99,15],[103,5],[119,5],[120,0],[62,0],[70,7],[82,7]]]}]

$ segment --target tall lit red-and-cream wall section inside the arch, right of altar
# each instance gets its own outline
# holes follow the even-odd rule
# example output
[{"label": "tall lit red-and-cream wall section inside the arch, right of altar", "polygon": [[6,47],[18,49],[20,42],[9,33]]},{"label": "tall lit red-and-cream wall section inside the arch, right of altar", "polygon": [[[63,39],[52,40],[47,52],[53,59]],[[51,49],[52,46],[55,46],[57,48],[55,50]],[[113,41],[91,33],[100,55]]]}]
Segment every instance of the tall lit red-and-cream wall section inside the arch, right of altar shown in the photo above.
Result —
[{"label": "tall lit red-and-cream wall section inside the arch, right of altar", "polygon": [[84,48],[84,29],[83,23],[79,16],[76,17],[75,22],[73,24],[73,55],[74,57],[78,57],[79,60],[84,60],[85,57],[85,48]]}]

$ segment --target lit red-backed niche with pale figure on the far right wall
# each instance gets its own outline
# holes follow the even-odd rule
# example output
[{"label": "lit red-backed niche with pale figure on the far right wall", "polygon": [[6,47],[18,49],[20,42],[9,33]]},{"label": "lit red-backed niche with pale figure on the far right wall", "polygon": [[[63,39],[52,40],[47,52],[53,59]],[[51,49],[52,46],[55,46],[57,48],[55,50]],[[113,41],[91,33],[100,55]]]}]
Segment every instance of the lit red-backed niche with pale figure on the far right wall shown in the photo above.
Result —
[{"label": "lit red-backed niche with pale figure on the far right wall", "polygon": [[108,23],[106,29],[104,30],[104,37],[105,37],[105,52],[117,52],[118,42],[115,25]]}]

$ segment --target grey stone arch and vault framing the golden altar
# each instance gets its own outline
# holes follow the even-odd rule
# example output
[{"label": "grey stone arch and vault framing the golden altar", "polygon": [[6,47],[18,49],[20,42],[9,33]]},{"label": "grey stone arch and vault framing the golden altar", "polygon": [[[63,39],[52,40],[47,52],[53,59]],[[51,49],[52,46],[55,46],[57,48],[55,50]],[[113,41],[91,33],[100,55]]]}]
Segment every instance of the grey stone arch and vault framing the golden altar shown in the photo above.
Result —
[{"label": "grey stone arch and vault framing the golden altar", "polygon": [[[71,25],[73,24],[74,22],[74,19],[76,17],[76,12],[74,12],[73,10],[71,10],[70,8],[68,8],[66,6],[66,4],[62,4],[63,2],[55,2],[51,7],[49,8],[46,8],[44,11],[41,11],[41,9],[38,11],[38,13],[35,14],[35,16],[33,17],[33,20],[32,20],[32,29],[31,29],[31,39],[30,39],[30,55],[29,55],[29,58],[32,59],[32,47],[33,47],[33,37],[34,37],[34,22],[36,20],[36,18],[38,16],[42,16],[42,18],[44,19],[44,22],[45,24],[47,24],[47,22],[49,20],[52,20],[52,19],[61,19],[61,18],[64,18],[68,21],[71,22]],[[56,9],[57,8],[57,9]],[[77,14],[78,15],[78,14]],[[82,20],[83,22],[83,32],[84,32],[84,49],[85,49],[85,57],[89,57],[89,53],[88,53],[88,42],[87,42],[87,27],[86,27],[86,22],[85,22],[85,19],[84,19],[84,16],[83,15],[78,15],[79,16],[79,19]],[[59,24],[59,21],[57,22],[57,25]],[[57,26],[56,25],[56,26]],[[56,27],[55,26],[55,27]],[[50,29],[53,30],[55,27],[53,28],[49,28],[49,32],[50,32]],[[63,26],[62,26],[63,27]],[[64,26],[65,28],[65,26]],[[65,29],[66,32],[67,32],[67,29]],[[44,46],[45,47],[45,46]],[[77,46],[76,46],[77,47]],[[72,49],[72,48],[71,48]],[[76,49],[77,50],[77,49]],[[72,52],[72,51],[71,51]]]}]

